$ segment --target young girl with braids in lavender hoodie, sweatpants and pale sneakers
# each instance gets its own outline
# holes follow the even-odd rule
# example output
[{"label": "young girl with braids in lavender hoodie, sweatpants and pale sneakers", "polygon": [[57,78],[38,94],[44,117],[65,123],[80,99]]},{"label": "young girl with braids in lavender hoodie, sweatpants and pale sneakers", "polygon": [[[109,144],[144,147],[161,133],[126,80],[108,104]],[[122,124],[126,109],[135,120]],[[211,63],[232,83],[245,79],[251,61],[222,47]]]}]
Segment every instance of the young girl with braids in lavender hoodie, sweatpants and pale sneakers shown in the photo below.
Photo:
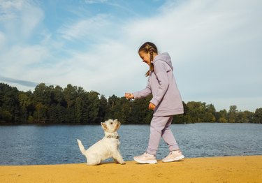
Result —
[{"label": "young girl with braids in lavender hoodie, sweatpants and pale sneakers", "polygon": [[158,53],[157,46],[154,43],[144,43],[138,50],[138,54],[150,66],[147,71],[147,87],[145,89],[131,93],[126,93],[125,97],[144,98],[152,94],[149,109],[154,110],[154,115],[150,123],[150,140],[147,151],[135,156],[133,159],[138,163],[157,163],[156,154],[161,138],[167,143],[170,153],[163,162],[179,161],[184,159],[177,142],[170,131],[169,126],[173,115],[184,113],[180,92],[177,89],[175,77],[173,75],[173,66],[168,53]]}]

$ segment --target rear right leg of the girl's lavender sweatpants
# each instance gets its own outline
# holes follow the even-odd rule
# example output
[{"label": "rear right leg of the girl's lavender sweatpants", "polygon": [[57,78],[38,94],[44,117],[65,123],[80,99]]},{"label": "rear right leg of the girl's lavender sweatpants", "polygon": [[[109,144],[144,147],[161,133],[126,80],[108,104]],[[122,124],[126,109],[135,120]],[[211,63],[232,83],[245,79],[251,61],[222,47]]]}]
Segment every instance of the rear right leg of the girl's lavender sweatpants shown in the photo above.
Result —
[{"label": "rear right leg of the girl's lavender sweatpants", "polygon": [[177,141],[175,140],[175,137],[174,137],[172,131],[169,129],[169,126],[172,123],[172,120],[173,120],[173,116],[171,116],[168,119],[168,122],[166,123],[166,126],[162,130],[162,138],[166,142],[166,144],[168,145],[168,148],[169,148],[170,152],[179,149],[179,147],[177,145]]}]

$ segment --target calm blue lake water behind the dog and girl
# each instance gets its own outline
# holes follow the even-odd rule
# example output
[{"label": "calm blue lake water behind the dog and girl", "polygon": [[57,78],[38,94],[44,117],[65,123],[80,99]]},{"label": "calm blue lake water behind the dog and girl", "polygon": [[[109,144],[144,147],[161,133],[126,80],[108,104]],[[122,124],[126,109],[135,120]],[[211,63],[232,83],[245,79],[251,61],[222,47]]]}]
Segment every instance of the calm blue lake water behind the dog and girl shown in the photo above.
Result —
[{"label": "calm blue lake water behind the dog and girl", "polygon": [[[171,129],[186,157],[262,155],[262,124],[172,124]],[[149,125],[120,127],[125,161],[145,152],[149,133]],[[0,126],[0,165],[84,163],[76,139],[89,147],[102,137],[99,125]],[[163,141],[157,153],[157,159],[168,154]]]}]

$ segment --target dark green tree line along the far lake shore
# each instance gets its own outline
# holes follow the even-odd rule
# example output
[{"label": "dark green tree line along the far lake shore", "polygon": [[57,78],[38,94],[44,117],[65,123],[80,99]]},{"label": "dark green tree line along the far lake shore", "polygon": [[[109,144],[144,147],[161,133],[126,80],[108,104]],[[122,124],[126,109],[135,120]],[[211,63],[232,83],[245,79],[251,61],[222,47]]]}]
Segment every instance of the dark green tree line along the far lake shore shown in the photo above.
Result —
[{"label": "dark green tree line along the far lake shore", "polygon": [[[22,92],[16,87],[0,83],[0,124],[100,124],[106,119],[119,119],[122,124],[149,124],[153,112],[148,110],[152,96],[126,100],[115,95],[105,98],[98,92],[86,92],[82,87],[48,86],[41,83],[34,92]],[[184,114],[175,115],[173,123],[201,122],[262,123],[262,108],[255,112],[216,111],[214,105],[200,101],[184,103]]]}]

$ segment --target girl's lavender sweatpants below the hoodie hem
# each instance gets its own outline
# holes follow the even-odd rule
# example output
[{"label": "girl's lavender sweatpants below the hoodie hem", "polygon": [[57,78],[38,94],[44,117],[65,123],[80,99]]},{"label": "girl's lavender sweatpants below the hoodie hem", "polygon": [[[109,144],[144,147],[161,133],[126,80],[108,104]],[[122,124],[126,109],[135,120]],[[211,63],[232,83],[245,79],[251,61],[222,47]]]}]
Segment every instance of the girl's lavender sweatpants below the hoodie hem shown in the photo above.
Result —
[{"label": "girl's lavender sweatpants below the hoodie hem", "polygon": [[157,154],[161,138],[163,138],[168,145],[170,152],[179,149],[172,131],[168,128],[172,119],[173,116],[154,116],[152,118],[150,123],[150,140],[147,147],[148,154]]}]

